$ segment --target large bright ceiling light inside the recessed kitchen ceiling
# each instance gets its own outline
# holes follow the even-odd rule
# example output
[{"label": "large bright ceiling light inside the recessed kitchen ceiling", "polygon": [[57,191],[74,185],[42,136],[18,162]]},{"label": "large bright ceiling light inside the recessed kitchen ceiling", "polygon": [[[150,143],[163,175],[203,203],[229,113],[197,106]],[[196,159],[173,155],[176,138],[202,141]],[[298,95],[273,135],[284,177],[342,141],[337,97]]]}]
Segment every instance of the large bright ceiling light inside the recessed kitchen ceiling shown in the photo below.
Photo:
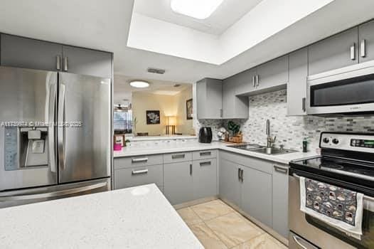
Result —
[{"label": "large bright ceiling light inside the recessed kitchen ceiling", "polygon": [[223,0],[171,0],[171,9],[185,16],[197,19],[208,18]]}]

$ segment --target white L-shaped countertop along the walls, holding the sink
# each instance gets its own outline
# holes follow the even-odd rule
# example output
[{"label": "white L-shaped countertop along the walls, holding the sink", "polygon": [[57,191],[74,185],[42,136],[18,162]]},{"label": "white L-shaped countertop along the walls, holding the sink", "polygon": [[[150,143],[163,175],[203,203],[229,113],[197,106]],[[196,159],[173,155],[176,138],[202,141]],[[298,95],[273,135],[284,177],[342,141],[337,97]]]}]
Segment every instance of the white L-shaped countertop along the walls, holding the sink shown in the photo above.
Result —
[{"label": "white L-shaped countertop along the walls, holding the sink", "polygon": [[146,147],[124,147],[122,151],[114,152],[114,158],[117,157],[136,157],[144,154],[164,154],[164,153],[174,153],[174,152],[193,152],[199,150],[208,149],[221,149],[227,152],[235,152],[238,154],[244,154],[250,157],[257,157],[259,159],[266,159],[269,161],[274,161],[280,164],[289,164],[289,161],[302,159],[305,157],[314,157],[316,152],[292,152],[288,154],[262,154],[257,152],[250,152],[244,149],[236,149],[230,147],[230,144],[225,144],[223,142],[212,142],[210,144],[202,144],[199,142],[172,142],[169,144],[159,144],[157,146],[146,146]]}]

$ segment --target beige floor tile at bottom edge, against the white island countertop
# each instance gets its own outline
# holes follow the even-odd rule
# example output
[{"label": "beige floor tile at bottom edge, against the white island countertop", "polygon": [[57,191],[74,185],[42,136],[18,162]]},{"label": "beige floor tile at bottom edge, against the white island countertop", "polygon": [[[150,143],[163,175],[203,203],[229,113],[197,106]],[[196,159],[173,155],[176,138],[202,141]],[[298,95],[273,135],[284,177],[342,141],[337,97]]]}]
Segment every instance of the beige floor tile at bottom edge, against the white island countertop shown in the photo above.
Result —
[{"label": "beige floor tile at bottom edge, against the white island countertop", "polygon": [[205,249],[227,249],[226,245],[220,241],[205,223],[191,225],[190,228]]}]

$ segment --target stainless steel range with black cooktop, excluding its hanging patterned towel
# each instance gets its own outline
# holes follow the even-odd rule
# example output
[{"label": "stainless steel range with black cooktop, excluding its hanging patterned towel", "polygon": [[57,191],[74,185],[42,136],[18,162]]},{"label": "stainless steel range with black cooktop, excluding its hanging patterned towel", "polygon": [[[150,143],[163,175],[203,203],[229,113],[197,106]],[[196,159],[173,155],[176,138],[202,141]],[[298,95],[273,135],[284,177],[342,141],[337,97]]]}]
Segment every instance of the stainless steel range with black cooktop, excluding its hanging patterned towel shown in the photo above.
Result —
[{"label": "stainless steel range with black cooktop, excluding its hanging patterned towel", "polygon": [[[374,134],[323,132],[319,147],[289,163],[289,248],[374,248]],[[300,211],[300,176],[365,195],[361,240]]]}]

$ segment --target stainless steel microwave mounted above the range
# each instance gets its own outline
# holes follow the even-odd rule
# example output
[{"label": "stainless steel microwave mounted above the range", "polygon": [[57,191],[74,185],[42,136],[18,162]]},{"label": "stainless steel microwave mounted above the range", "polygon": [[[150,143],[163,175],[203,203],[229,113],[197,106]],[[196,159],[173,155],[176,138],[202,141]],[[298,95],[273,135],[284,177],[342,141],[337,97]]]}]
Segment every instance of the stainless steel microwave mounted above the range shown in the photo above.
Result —
[{"label": "stainless steel microwave mounted above the range", "polygon": [[310,75],[306,94],[309,115],[374,114],[374,61]]}]

